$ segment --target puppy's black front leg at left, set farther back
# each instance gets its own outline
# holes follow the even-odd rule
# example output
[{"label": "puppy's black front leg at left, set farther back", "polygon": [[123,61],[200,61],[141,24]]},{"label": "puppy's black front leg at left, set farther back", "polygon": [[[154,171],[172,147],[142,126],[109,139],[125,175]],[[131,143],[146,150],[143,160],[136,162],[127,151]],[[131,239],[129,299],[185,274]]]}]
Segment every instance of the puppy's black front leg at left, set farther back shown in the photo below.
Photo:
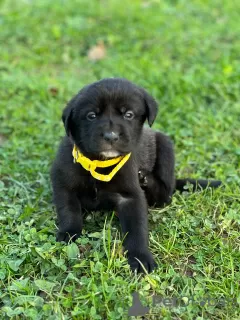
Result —
[{"label": "puppy's black front leg at left, set farther back", "polygon": [[82,209],[74,191],[53,188],[58,215],[57,241],[76,240],[82,232]]}]

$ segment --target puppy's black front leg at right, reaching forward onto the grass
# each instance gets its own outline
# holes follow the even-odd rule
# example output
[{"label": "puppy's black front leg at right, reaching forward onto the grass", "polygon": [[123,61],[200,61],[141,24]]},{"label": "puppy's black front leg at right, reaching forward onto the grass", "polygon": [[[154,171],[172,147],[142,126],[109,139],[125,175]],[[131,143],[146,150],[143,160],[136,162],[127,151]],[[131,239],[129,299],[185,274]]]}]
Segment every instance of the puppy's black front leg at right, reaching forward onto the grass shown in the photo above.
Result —
[{"label": "puppy's black front leg at right, reaching forward onto the grass", "polygon": [[121,196],[117,212],[125,237],[123,245],[128,251],[131,269],[143,272],[138,262],[140,260],[144,268],[151,272],[156,267],[156,263],[148,249],[147,203],[143,191],[139,189],[129,197]]}]

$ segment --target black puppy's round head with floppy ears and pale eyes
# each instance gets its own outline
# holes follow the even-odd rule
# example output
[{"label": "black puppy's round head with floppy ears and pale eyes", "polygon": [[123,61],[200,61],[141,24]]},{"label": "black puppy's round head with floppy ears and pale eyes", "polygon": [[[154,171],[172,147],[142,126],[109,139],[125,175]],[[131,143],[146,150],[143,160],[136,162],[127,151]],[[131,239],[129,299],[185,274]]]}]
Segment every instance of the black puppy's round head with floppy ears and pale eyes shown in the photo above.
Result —
[{"label": "black puppy's round head with floppy ears and pale eyes", "polygon": [[68,136],[92,158],[113,158],[136,148],[145,120],[151,126],[156,101],[128,80],[103,79],[84,87],[63,111]]}]

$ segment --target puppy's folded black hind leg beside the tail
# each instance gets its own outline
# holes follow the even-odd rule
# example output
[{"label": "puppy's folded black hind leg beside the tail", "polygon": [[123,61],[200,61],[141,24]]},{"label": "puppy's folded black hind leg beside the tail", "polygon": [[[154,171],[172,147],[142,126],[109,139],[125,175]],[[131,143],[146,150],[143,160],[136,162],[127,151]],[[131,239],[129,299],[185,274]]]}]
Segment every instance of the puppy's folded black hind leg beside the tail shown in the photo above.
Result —
[{"label": "puppy's folded black hind leg beside the tail", "polygon": [[[144,172],[141,172],[144,175]],[[156,162],[151,173],[140,177],[140,184],[145,191],[150,206],[162,207],[171,202],[175,188],[174,149],[171,140],[160,132],[156,132]]]}]

